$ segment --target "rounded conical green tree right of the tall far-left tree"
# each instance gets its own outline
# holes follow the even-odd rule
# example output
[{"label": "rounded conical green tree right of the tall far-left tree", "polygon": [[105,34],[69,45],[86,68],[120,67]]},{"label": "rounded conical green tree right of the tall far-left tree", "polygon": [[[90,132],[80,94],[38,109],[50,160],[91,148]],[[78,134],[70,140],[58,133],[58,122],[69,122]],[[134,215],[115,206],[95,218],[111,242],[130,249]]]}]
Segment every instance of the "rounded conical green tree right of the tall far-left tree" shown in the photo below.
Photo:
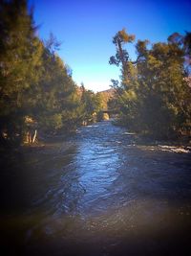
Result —
[{"label": "rounded conical green tree right of the tall far-left tree", "polygon": [[32,108],[32,117],[41,130],[55,133],[67,127],[67,116],[71,119],[70,112],[75,108],[74,93],[74,81],[67,74],[63,61],[44,47],[39,81],[32,86],[31,92],[38,97]]}]

